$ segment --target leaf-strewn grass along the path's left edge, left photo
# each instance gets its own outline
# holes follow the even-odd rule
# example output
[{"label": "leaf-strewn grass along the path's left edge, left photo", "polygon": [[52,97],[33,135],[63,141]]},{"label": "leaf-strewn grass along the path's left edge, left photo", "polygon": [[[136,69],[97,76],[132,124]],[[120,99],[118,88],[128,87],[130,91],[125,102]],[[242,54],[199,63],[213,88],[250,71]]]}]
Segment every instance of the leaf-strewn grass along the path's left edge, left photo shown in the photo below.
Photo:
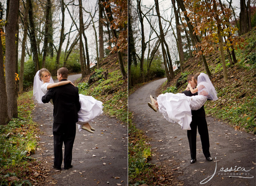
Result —
[{"label": "leaf-strewn grass along the path's left edge, left photo", "polygon": [[[18,118],[12,119],[7,125],[0,126],[0,185],[32,185],[33,154],[38,140],[38,130],[33,122],[31,111],[34,102],[33,91],[19,96]],[[10,179],[16,176],[19,180]]]}]

